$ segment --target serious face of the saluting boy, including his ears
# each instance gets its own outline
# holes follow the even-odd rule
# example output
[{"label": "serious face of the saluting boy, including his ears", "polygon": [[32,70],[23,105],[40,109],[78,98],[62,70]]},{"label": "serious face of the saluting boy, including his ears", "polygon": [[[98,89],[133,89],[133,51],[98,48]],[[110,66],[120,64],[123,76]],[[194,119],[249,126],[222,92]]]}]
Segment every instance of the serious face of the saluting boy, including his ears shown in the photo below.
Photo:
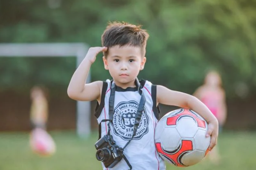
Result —
[{"label": "serious face of the saluting boy, including his ears", "polygon": [[103,61],[116,85],[127,88],[134,86],[134,80],[143,70],[146,58],[142,56],[140,47],[115,45],[108,49],[108,57],[103,57]]}]

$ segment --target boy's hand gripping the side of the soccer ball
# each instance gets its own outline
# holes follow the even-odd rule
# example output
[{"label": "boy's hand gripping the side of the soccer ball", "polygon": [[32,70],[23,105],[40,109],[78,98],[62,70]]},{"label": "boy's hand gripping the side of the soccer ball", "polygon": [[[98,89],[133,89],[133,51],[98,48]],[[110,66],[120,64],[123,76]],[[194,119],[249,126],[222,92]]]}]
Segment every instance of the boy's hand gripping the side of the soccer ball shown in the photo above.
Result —
[{"label": "boy's hand gripping the side of the soccer ball", "polygon": [[209,150],[211,151],[212,148],[217,144],[218,122],[217,123],[209,122],[206,137],[209,137],[209,136],[211,136],[211,142],[209,144]]}]

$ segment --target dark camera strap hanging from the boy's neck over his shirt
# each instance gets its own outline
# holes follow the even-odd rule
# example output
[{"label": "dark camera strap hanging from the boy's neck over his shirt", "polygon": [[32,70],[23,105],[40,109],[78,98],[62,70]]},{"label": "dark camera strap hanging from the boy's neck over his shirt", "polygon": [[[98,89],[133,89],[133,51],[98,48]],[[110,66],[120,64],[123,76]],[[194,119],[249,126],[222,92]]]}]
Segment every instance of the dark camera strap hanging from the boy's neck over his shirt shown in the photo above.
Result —
[{"label": "dark camera strap hanging from the boy's neck over his shirt", "polygon": [[[140,98],[140,103],[137,109],[137,113],[135,116],[135,121],[134,121],[134,131],[133,131],[133,135],[131,136],[131,139],[125,144],[125,146],[123,148],[121,148],[122,150],[125,149],[125,147],[127,147],[127,145],[131,142],[131,140],[133,139],[133,137],[136,135],[137,132],[137,128],[140,124],[140,119],[143,113],[143,109],[144,109],[144,105],[146,102],[146,98],[143,94],[143,91],[141,90],[141,85],[139,80],[136,78],[135,79],[135,85],[138,88],[138,92],[141,95]],[[111,83],[111,94],[109,97],[109,111],[108,111],[108,115],[109,115],[109,122],[108,122],[108,135],[110,135],[110,123],[113,123],[113,114],[114,114],[114,100],[115,100],[115,91],[116,91],[116,85],[114,82]],[[128,159],[125,157],[125,155],[123,155],[123,158],[125,160],[125,162],[128,164],[128,166],[130,167],[130,170],[132,169],[131,164],[129,163]]]}]

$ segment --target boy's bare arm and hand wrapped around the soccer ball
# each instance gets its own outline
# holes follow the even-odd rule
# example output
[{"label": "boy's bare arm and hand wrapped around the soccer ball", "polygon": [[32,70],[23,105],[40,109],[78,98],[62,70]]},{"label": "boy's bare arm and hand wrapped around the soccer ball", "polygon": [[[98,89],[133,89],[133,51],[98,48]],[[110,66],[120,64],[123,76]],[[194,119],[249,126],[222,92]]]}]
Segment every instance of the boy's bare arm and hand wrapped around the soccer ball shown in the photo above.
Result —
[{"label": "boy's bare arm and hand wrapped around the soccer ball", "polygon": [[164,86],[157,85],[157,103],[158,102],[164,105],[187,106],[189,109],[200,114],[208,122],[207,136],[211,136],[209,150],[216,145],[218,138],[218,120],[207,106],[195,96],[179,91],[172,91]]}]

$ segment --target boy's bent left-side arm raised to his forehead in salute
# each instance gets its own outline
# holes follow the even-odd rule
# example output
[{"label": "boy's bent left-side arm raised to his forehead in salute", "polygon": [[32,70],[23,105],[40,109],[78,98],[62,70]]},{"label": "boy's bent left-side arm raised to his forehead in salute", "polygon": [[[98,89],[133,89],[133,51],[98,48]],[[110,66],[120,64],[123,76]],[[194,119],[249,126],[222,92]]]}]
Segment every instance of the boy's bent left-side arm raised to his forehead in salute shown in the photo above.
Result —
[{"label": "boy's bent left-side arm raised to his forehead in salute", "polygon": [[107,49],[108,48],[106,47],[89,48],[83,61],[73,74],[67,88],[67,94],[71,99],[81,101],[99,99],[103,83],[101,81],[91,82],[88,84],[84,83],[86,82],[89,74],[90,66],[96,60],[96,55],[99,54],[99,52],[107,51]]}]

